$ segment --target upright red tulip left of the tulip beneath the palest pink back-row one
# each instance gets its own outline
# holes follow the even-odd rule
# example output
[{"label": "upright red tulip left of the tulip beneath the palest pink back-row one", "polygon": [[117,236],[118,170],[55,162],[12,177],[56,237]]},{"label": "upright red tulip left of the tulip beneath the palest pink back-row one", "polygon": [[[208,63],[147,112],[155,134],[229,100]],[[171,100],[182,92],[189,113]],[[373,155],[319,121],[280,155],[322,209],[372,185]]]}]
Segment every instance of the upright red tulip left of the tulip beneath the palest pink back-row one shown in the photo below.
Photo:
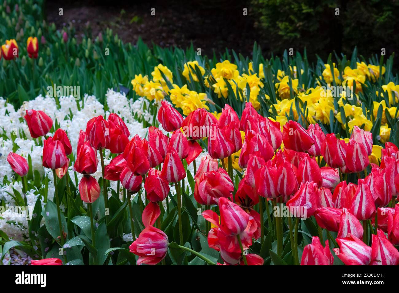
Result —
[{"label": "upright red tulip left of the tulip beneath the palest pink back-row one", "polygon": [[346,143],[344,140],[338,140],[334,133],[326,135],[326,140],[322,144],[322,155],[324,161],[333,168],[345,166],[346,161]]}]

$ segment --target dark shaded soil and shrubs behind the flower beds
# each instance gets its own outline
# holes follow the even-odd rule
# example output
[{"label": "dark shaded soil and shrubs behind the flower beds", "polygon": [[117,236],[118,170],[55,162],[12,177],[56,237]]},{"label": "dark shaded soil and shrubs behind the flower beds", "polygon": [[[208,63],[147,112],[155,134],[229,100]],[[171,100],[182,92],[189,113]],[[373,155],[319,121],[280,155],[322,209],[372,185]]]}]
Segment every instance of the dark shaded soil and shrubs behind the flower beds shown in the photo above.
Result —
[{"label": "dark shaded soil and shrubs behind the flower beds", "polygon": [[[64,15],[59,16],[59,8]],[[150,10],[155,8],[156,15]],[[243,15],[248,9],[248,16]],[[339,16],[336,15],[339,8]],[[47,1],[45,14],[57,28],[69,22],[93,35],[109,27],[124,42],[185,48],[191,42],[208,56],[225,48],[250,55],[257,41],[268,57],[288,48],[326,58],[332,51],[386,55],[399,48],[397,0],[192,0],[192,1]],[[397,59],[397,58],[396,58]],[[397,62],[395,62],[397,63]]]}]

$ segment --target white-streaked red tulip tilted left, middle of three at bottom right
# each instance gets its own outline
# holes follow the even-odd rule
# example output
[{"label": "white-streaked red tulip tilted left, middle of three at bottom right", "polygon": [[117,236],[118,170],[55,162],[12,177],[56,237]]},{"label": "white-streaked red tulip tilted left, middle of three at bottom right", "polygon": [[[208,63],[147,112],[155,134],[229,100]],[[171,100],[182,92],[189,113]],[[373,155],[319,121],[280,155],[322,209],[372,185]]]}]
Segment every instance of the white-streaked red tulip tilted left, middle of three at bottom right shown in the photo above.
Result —
[{"label": "white-streaked red tulip tilted left, middle of three at bottom right", "polygon": [[345,238],[337,238],[340,246],[338,258],[346,265],[369,265],[371,247],[364,244],[358,237],[348,234]]}]

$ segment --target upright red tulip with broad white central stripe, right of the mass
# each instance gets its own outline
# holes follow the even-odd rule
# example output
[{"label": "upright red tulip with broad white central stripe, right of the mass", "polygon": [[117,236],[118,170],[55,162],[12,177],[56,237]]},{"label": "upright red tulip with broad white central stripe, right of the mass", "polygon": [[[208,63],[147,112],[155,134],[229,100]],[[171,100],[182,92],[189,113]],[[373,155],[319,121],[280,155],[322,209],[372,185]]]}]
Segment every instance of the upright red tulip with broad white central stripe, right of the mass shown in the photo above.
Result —
[{"label": "upright red tulip with broad white central stripe, right of the mass", "polygon": [[369,220],[375,215],[373,195],[366,184],[361,183],[356,188],[349,210],[359,220]]}]

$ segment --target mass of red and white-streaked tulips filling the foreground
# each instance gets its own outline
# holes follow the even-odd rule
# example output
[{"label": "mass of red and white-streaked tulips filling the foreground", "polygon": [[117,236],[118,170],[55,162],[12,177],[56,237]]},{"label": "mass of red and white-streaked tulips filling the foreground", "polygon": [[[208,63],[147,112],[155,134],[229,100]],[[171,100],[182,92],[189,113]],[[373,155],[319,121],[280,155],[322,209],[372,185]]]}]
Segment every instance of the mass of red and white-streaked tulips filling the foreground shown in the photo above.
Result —
[{"label": "mass of red and white-streaked tulips filling the foreground", "polygon": [[[46,136],[53,126],[51,118],[41,111],[27,110],[25,119],[33,138]],[[279,122],[259,115],[251,103],[246,104],[241,119],[228,105],[216,119],[204,109],[183,118],[163,101],[158,120],[163,129],[171,133],[170,137],[158,128],[150,127],[148,140],[137,135],[129,140],[130,132],[117,114],[109,115],[107,120],[103,116],[92,118],[87,122],[85,132],[80,132],[74,163],[74,170],[83,174],[79,191],[90,212],[91,203],[101,193],[99,183],[90,175],[97,170],[97,150],[103,178],[120,180],[127,190],[129,203],[132,194],[137,193],[144,182],[149,203],[142,214],[145,229],[137,239],[131,220],[134,242],[130,251],[139,256],[137,264],[157,264],[167,253],[168,237],[159,229],[159,216],[161,202],[167,199],[170,191],[169,183],[176,187],[180,247],[186,249],[182,246],[180,198],[180,181],[186,177],[183,159],[188,164],[194,163],[194,198],[200,205],[205,205],[207,209],[202,215],[213,224],[212,227],[207,225],[205,231],[209,247],[220,251],[227,265],[263,264],[259,255],[246,253],[253,239],[259,239],[261,243],[265,239],[263,204],[266,205],[268,227],[274,229],[277,236],[277,255],[282,254],[282,215],[275,215],[272,223],[269,203],[273,207],[285,204],[297,217],[295,223],[292,223],[291,216],[288,217],[294,263],[299,263],[298,217],[314,216],[320,237],[321,230],[326,229],[334,249],[339,246],[336,254],[345,264],[399,264],[399,252],[394,247],[399,244],[399,212],[396,210],[399,206],[394,207],[395,196],[399,193],[399,151],[395,145],[387,143],[382,150],[380,165],[370,165],[371,133],[355,126],[347,143],[336,138],[335,134],[324,134],[317,124],[306,130],[297,122],[288,121],[281,131]],[[208,129],[209,132],[207,135],[204,131],[196,132],[199,129]],[[243,141],[240,131],[245,132]],[[205,136],[208,137],[209,155],[202,159],[197,170],[195,159],[203,150],[198,142]],[[118,154],[107,166],[103,161],[103,149]],[[240,149],[239,165],[245,168],[245,175],[235,190],[231,155]],[[53,169],[55,183],[56,175],[62,177],[67,174],[67,155],[71,152],[67,134],[61,129],[44,140],[43,166]],[[228,167],[225,158],[228,158]],[[222,167],[219,167],[218,159],[221,159]],[[8,161],[16,173],[26,175],[28,165],[24,158],[10,153]],[[367,167],[371,170],[368,174]],[[357,184],[347,183],[349,173],[358,174]],[[103,181],[103,190],[107,191],[106,180]],[[108,194],[103,194],[107,208]],[[55,198],[60,212],[57,191]],[[259,213],[255,211],[255,205],[259,205]],[[131,209],[131,205],[128,206]],[[363,234],[369,231],[371,219],[375,235],[369,247],[369,235]],[[107,223],[107,217],[105,221]],[[154,227],[157,221],[158,228]],[[363,226],[360,221],[363,221]],[[93,221],[91,225],[93,232]],[[61,223],[59,227],[60,235],[63,235]],[[338,237],[332,238],[329,231],[338,232]],[[61,236],[61,245],[63,241]],[[304,248],[301,264],[332,264],[329,242],[325,242],[325,247],[323,242],[323,239],[313,237],[312,243]],[[204,256],[198,254],[198,257],[211,263]]]}]

